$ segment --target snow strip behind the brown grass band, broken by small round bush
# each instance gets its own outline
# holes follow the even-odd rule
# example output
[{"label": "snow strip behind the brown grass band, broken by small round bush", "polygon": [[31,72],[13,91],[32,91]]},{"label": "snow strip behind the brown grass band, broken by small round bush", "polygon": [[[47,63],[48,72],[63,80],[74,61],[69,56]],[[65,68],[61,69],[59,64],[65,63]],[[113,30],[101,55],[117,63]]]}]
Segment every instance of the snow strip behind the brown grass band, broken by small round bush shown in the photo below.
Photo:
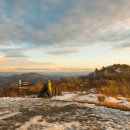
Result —
[{"label": "snow strip behind the brown grass band, broken by small round bush", "polygon": [[[76,92],[76,93],[65,92],[63,93],[62,96],[56,96],[53,97],[53,99],[64,100],[64,101],[76,101],[76,102],[90,101],[90,102],[98,103],[99,102],[98,96],[101,96],[101,94],[92,94],[92,93],[82,94],[81,92]],[[127,98],[121,96],[117,98],[105,96],[105,101],[130,108],[130,102],[127,101]]]}]

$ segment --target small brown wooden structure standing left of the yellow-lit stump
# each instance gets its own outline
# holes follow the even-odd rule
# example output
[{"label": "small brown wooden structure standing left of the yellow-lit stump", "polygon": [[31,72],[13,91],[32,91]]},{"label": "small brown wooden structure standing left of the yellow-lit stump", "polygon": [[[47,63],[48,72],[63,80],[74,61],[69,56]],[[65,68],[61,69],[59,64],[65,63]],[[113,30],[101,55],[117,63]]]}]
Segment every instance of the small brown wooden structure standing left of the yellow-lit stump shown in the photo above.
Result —
[{"label": "small brown wooden structure standing left of the yellow-lit stump", "polygon": [[18,81],[19,95],[25,96],[25,92],[29,90],[29,82],[25,80]]}]

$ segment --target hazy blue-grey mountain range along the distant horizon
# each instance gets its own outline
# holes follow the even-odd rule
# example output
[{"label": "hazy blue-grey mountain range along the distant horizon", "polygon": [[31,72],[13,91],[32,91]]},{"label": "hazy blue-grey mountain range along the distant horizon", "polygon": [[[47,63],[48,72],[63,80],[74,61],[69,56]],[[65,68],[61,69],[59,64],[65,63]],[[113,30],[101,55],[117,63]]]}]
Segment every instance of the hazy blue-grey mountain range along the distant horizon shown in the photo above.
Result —
[{"label": "hazy blue-grey mountain range along the distant horizon", "polygon": [[[87,75],[88,73],[86,73]],[[0,87],[6,87],[10,83],[18,82],[18,80],[27,80],[29,83],[36,83],[38,81],[46,82],[48,79],[51,80],[59,80],[61,78],[67,78],[71,76],[79,76],[85,75],[82,73],[72,73],[72,72],[64,72],[64,73],[15,73],[15,72],[1,72],[0,73]]]}]

